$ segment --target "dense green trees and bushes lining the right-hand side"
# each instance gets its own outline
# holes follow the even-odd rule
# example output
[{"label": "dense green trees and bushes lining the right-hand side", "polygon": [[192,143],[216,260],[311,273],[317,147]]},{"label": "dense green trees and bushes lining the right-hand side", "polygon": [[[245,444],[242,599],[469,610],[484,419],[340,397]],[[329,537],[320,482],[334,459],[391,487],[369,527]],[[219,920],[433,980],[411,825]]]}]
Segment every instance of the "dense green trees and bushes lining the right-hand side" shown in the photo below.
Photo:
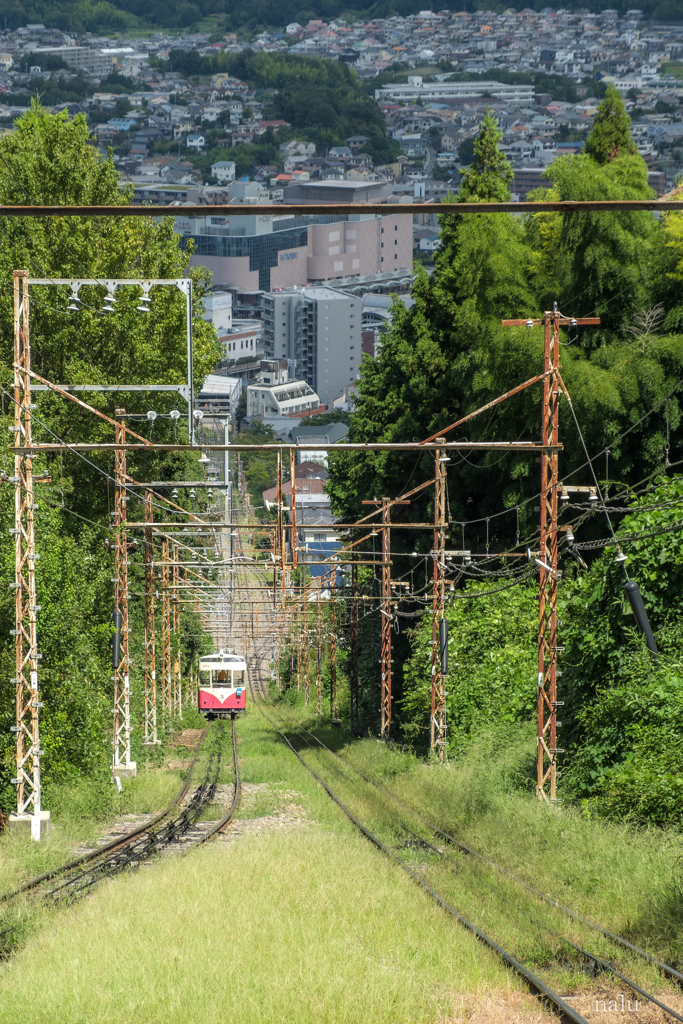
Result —
[{"label": "dense green trees and bushes lining the right-hand side", "polygon": [[[497,135],[488,119],[465,177],[469,200],[507,198],[508,171],[497,154]],[[645,164],[634,152],[621,101],[609,93],[589,142],[588,153],[551,165],[546,177],[552,188],[544,198],[650,198]],[[504,328],[502,319],[538,318],[553,301],[566,316],[600,316],[599,327],[568,326],[560,334],[561,373],[573,407],[565,400],[560,404],[560,478],[593,482],[588,452],[601,483],[608,481],[612,494],[618,490],[616,504],[634,509],[623,521],[615,517],[615,526],[660,655],[653,660],[644,648],[613,547],[582,551],[577,559],[562,545],[560,642],[566,649],[560,741],[567,752],[562,788],[565,797],[584,801],[587,813],[679,825],[683,608],[677,524],[683,481],[668,479],[665,470],[678,461],[683,446],[683,213],[661,219],[632,211],[525,218],[447,214],[440,220],[442,244],[434,272],[419,271],[410,309],[395,300],[379,356],[364,360],[350,440],[437,435],[540,373],[543,328]],[[538,438],[541,398],[541,385],[533,385],[450,437]],[[364,515],[367,495],[398,496],[432,477],[433,457],[427,453],[418,460],[414,454],[339,453],[331,459],[328,489],[335,510],[352,521]],[[523,552],[538,545],[539,475],[531,459],[452,455],[447,481],[446,549]],[[643,486],[646,494],[630,501],[632,490]],[[432,495],[431,486],[418,490],[408,508],[392,510],[392,520],[428,521]],[[673,504],[648,508],[663,503]],[[561,523],[569,522],[579,542],[608,534],[602,515],[561,511]],[[673,532],[658,532],[672,526]],[[641,534],[655,536],[629,539]],[[402,571],[401,552],[409,558],[411,550],[427,555],[424,563],[410,563],[410,579],[413,592],[429,593],[431,537],[395,530],[391,546],[394,574]],[[509,562],[493,564],[510,567]],[[462,586],[462,575],[454,574]],[[466,581],[468,575],[475,579],[456,591],[445,610],[451,624],[446,712],[454,752],[484,726],[501,728],[535,715],[536,586],[497,592],[504,579],[486,582],[470,571]],[[374,581],[367,587],[378,592]],[[487,597],[486,589],[496,593]],[[468,593],[478,596],[468,599]],[[416,628],[394,638],[393,691],[401,734],[424,749],[432,623],[429,611],[420,622],[420,606],[413,608]],[[374,629],[377,635],[376,621]],[[362,656],[372,664],[377,651],[368,649]]]}]

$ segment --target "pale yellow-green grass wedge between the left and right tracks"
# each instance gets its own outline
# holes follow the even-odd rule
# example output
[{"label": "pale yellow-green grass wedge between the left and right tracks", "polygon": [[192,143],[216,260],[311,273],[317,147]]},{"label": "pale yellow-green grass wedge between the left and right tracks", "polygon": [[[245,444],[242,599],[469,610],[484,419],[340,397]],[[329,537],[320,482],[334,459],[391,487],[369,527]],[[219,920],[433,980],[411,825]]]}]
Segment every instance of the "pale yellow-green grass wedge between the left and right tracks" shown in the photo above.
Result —
[{"label": "pale yellow-green grass wedge between the left and right tracks", "polygon": [[0,1024],[436,1024],[468,999],[522,999],[255,711],[238,729],[244,780],[268,783],[253,809],[295,795],[313,823],[201,847],[46,916],[0,968]]}]

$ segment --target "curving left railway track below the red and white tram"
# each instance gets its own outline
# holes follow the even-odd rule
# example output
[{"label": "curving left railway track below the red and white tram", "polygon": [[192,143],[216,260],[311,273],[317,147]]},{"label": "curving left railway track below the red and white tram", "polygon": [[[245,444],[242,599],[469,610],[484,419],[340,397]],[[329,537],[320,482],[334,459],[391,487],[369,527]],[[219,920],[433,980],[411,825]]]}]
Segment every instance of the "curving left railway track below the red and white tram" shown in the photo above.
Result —
[{"label": "curving left railway track below the red and white tram", "polygon": [[[10,907],[23,896],[47,901],[52,905],[73,900],[87,892],[104,878],[112,878],[121,871],[137,867],[150,861],[155,855],[171,849],[187,849],[200,846],[212,839],[225,827],[238,808],[241,796],[240,769],[238,764],[237,735],[234,722],[231,723],[232,764],[234,772],[234,793],[227,812],[215,823],[200,819],[212,802],[222,762],[222,723],[207,726],[200,737],[187,776],[175,799],[165,810],[151,821],[131,829],[111,843],[91,850],[65,864],[37,874],[24,882],[16,889],[0,895],[0,904]],[[201,781],[191,796],[193,778],[202,756],[205,758]],[[0,947],[5,951],[13,945],[12,935],[23,923],[24,904],[13,922],[0,929]],[[5,918],[10,916],[5,912]]]}]

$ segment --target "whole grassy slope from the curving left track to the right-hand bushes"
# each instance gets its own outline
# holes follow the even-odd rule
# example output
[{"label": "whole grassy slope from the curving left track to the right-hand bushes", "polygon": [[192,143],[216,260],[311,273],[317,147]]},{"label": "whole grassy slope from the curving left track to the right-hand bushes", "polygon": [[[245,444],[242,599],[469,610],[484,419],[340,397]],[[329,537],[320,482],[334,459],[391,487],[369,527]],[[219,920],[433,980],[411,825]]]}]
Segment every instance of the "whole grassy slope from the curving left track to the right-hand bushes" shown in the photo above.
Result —
[{"label": "whole grassy slope from the curving left track to the right-hand bushes", "polygon": [[[0,1024],[427,1024],[460,1018],[486,996],[499,1007],[521,1001],[517,980],[353,831],[255,711],[239,732],[244,780],[267,783],[242,818],[270,814],[281,795],[295,794],[309,823],[201,848],[103,884],[84,903],[51,915],[0,969]],[[325,738],[333,737],[344,742],[341,730]],[[677,959],[680,837],[540,808],[514,788],[528,750],[525,730],[510,729],[482,738],[447,770],[374,740],[345,754],[499,863]],[[552,911],[474,858],[457,855],[444,864],[424,849],[407,849],[400,820],[410,818],[351,784],[329,755],[306,757],[387,843],[545,980],[565,992],[593,985],[575,956],[521,915],[530,911],[556,927]],[[563,931],[606,953],[604,940],[596,947],[581,927]],[[666,987],[613,947],[609,958],[646,987]],[[28,976],[36,981],[31,992]]]}]

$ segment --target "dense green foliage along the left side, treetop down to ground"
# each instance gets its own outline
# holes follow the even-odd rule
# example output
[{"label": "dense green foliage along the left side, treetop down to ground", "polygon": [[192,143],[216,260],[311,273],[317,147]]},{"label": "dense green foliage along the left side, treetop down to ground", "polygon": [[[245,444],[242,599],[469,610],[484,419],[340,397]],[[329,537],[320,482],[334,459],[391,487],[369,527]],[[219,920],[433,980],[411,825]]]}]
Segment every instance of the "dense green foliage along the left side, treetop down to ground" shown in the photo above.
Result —
[{"label": "dense green foliage along the left side, treetop down to ground", "polygon": [[[77,170],[77,173],[75,173]],[[128,199],[123,196],[123,202]],[[122,202],[119,176],[88,141],[82,116],[46,114],[38,105],[23,117],[15,130],[0,140],[0,202],[103,204]],[[147,218],[4,219],[0,232],[0,384],[12,379],[13,292],[12,271],[28,269],[32,278],[52,281],[74,278],[103,281],[113,278],[178,279],[184,275],[188,254],[178,247],[172,223]],[[202,318],[205,278],[193,271],[196,284],[193,310],[195,381],[197,385],[216,361],[219,351],[211,326]],[[178,384],[186,380],[184,295],[172,285],[153,288],[151,311],[140,314],[139,288],[116,293],[113,313],[102,312],[103,284],[84,287],[81,308],[69,312],[69,289],[47,285],[31,290],[31,342],[33,367],[56,383]],[[123,404],[128,413],[170,410],[179,396],[173,392],[133,392],[125,399],[115,393],[90,393],[87,400],[109,416]],[[51,393],[35,397],[34,440],[111,441],[110,424]],[[180,408],[184,402],[180,403]],[[3,393],[2,423],[5,438],[13,420],[12,398]],[[49,427],[47,426],[49,424]],[[148,433],[150,425],[139,430]],[[183,428],[180,428],[182,430]],[[185,434],[186,436],[186,434]],[[173,440],[170,419],[156,424],[156,439]],[[10,465],[3,444],[4,466]],[[106,772],[110,753],[106,730],[111,723],[111,638],[113,555],[102,548],[111,541],[114,493],[112,455],[52,455],[34,464],[48,469],[52,482],[41,485],[37,512],[37,544],[41,553],[38,579],[40,613],[41,692],[45,702],[42,740],[45,750],[44,780],[65,780],[78,775]],[[13,468],[13,467],[12,467]],[[128,472],[137,479],[189,478],[198,473],[195,457],[130,456]],[[187,478],[187,476],[185,476]],[[201,496],[197,502],[205,501]],[[163,507],[155,510],[164,519]],[[141,518],[138,500],[128,505],[129,517]],[[0,495],[0,521],[7,537],[13,524],[11,488]],[[133,680],[143,665],[141,641],[142,550],[129,555],[131,583],[131,653]],[[8,725],[14,716],[14,692],[8,680],[13,671],[13,549],[3,548],[0,563],[3,595],[0,617],[7,639],[0,645],[0,806],[11,807],[14,737]],[[140,586],[135,586],[136,584]],[[183,611],[181,646],[184,658],[205,642],[194,612]],[[110,665],[108,665],[110,662]],[[137,699],[133,716],[139,724],[141,686],[133,686]],[[136,743],[139,730],[136,731]]]}]

